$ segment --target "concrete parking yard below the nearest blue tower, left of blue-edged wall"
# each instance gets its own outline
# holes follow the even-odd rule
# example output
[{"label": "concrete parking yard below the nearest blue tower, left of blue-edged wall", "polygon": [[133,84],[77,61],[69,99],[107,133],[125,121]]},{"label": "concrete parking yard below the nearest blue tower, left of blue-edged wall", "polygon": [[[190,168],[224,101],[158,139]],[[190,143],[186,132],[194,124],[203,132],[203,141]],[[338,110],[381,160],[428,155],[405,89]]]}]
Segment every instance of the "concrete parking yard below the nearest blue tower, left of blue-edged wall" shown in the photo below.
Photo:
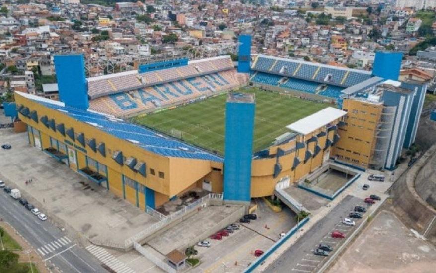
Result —
[{"label": "concrete parking yard below the nearest blue tower, left of blue-edged wall", "polygon": [[295,226],[295,214],[288,208],[275,213],[262,199],[255,199],[255,202],[257,220],[237,223],[240,229],[222,240],[207,239],[211,242],[209,248],[196,247],[201,264],[192,272],[242,272],[257,259],[255,250],[266,251],[279,239],[280,233]]}]

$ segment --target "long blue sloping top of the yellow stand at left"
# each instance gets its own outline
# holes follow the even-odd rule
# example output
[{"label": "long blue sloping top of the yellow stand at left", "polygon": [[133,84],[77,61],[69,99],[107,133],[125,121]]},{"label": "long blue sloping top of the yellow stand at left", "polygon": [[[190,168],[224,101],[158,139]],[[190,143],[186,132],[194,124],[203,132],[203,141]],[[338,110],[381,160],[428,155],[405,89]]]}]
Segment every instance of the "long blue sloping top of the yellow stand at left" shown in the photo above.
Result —
[{"label": "long blue sloping top of the yellow stand at left", "polygon": [[191,158],[223,162],[224,159],[211,152],[186,144],[150,129],[128,123],[114,116],[65,106],[64,103],[39,96],[17,92],[19,95],[69,115],[75,120],[97,127],[119,139],[127,140],[144,150],[167,157]]}]

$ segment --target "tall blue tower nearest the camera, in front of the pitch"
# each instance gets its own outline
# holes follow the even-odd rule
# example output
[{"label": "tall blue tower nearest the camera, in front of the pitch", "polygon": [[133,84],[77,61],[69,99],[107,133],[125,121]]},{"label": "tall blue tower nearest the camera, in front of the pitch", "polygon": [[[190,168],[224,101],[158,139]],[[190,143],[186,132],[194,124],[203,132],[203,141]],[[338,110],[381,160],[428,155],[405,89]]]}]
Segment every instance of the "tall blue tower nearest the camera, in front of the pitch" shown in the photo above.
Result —
[{"label": "tall blue tower nearest the camera, in front of the pitch", "polygon": [[249,203],[254,94],[229,93],[225,106],[224,200]]}]

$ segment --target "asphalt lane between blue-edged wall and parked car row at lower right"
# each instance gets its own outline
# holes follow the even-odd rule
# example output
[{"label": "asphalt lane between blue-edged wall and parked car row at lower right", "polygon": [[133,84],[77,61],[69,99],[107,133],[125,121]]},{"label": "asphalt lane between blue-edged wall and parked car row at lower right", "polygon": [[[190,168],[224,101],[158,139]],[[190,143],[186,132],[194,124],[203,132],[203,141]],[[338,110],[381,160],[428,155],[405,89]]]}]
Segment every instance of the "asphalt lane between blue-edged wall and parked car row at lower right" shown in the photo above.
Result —
[{"label": "asphalt lane between blue-edged wall and parked car row at lower right", "polygon": [[[298,264],[301,263],[302,259],[305,259],[307,255],[311,255],[312,249],[319,244],[324,236],[329,235],[331,230],[334,229],[343,218],[347,217],[357,204],[363,205],[362,199],[347,195],[341,203],[301,236],[291,248],[285,251],[285,253],[274,261],[264,272],[289,273],[291,269],[298,268]],[[299,271],[300,270],[295,270],[295,272]],[[301,272],[306,271],[301,270]],[[307,272],[310,272],[310,270]]]}]

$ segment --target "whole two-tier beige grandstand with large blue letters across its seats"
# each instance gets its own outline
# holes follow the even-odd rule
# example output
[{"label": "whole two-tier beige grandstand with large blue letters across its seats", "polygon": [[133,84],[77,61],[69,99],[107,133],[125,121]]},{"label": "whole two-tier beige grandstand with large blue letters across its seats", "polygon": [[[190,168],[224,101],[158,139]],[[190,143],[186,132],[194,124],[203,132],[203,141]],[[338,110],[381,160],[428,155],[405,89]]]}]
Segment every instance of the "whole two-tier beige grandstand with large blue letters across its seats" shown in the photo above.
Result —
[{"label": "whole two-tier beige grandstand with large blue letters across its seats", "polygon": [[89,108],[117,117],[189,102],[240,85],[229,56],[139,74],[129,71],[88,79]]}]

